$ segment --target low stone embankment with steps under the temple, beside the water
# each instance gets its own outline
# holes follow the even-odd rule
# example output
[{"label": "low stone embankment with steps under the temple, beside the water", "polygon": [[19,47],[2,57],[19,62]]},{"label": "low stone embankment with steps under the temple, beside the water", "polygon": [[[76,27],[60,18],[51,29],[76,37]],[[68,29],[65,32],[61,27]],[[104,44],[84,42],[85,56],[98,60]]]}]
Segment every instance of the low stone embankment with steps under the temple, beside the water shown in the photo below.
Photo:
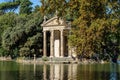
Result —
[{"label": "low stone embankment with steps under the temple, beside the water", "polygon": [[93,64],[93,63],[105,63],[104,61],[94,61],[94,60],[78,60],[69,57],[64,58],[50,58],[50,57],[43,57],[37,59],[17,59],[18,63],[24,64]]}]

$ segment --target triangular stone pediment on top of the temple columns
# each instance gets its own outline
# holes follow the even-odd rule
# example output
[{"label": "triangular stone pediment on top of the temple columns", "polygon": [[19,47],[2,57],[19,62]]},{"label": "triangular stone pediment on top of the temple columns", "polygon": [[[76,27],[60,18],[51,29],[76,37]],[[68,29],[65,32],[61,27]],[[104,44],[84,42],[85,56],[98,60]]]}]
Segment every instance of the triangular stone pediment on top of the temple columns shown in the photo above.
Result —
[{"label": "triangular stone pediment on top of the temple columns", "polygon": [[58,18],[57,16],[47,20],[47,21],[44,21],[42,26],[59,26],[59,25],[65,25],[65,21],[62,19],[62,18]]}]

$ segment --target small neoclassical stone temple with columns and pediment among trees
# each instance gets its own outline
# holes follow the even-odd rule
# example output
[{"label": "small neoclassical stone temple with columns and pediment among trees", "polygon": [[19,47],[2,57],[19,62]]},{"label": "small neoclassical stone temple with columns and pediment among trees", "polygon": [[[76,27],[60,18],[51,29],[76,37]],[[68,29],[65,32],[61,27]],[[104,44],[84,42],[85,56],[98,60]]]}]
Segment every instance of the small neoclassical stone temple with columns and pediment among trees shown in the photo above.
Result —
[{"label": "small neoclassical stone temple with columns and pediment among trees", "polygon": [[[47,40],[50,39],[50,56],[48,57],[68,57],[71,56],[68,46],[68,35],[70,32],[70,22],[55,15],[41,24],[43,27],[43,56],[47,56]],[[48,38],[47,32],[50,33]]]}]

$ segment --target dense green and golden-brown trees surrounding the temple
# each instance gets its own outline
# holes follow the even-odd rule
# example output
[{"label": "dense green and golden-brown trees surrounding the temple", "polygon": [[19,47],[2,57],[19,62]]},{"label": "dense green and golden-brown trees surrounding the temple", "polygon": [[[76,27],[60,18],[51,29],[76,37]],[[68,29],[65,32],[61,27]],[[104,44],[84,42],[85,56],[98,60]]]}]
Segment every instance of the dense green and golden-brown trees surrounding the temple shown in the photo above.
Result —
[{"label": "dense green and golden-brown trees surrounding the temple", "polygon": [[[0,4],[1,55],[37,56],[42,54],[43,16],[71,21],[69,44],[79,57],[117,59],[120,54],[120,0],[40,0],[31,7],[29,0]],[[19,13],[14,11],[18,9]]]}]

